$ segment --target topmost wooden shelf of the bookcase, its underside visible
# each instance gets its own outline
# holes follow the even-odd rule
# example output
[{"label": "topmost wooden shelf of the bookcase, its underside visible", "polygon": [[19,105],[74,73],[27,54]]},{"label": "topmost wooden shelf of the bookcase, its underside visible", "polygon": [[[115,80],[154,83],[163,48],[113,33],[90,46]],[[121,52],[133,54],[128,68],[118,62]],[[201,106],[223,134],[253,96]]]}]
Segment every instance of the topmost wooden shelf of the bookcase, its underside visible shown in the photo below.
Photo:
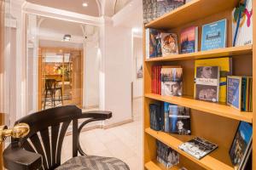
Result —
[{"label": "topmost wooden shelf of the bookcase, its underside visible", "polygon": [[[236,6],[237,0],[193,0],[149,22],[146,27],[172,29]],[[200,12],[199,12],[200,11]]]}]

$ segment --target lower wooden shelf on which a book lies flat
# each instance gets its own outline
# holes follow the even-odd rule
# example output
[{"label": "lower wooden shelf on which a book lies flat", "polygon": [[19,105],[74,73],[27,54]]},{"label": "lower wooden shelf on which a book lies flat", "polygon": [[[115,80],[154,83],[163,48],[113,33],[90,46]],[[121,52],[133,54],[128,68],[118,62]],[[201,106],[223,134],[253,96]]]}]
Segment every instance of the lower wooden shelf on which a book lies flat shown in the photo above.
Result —
[{"label": "lower wooden shelf on which a book lies flat", "polygon": [[203,157],[201,160],[197,160],[195,159],[195,157],[189,156],[189,154],[187,154],[183,150],[178,149],[178,145],[183,144],[183,142],[186,142],[189,139],[192,139],[193,136],[171,135],[168,133],[154,131],[151,128],[146,128],[145,133],[148,133],[154,139],[158,139],[162,143],[170,146],[180,155],[187,157],[189,160],[201,165],[201,167],[204,167],[206,169],[234,170],[230,159],[226,159],[229,158],[228,149],[219,147],[217,150],[214,150],[211,154]]}]

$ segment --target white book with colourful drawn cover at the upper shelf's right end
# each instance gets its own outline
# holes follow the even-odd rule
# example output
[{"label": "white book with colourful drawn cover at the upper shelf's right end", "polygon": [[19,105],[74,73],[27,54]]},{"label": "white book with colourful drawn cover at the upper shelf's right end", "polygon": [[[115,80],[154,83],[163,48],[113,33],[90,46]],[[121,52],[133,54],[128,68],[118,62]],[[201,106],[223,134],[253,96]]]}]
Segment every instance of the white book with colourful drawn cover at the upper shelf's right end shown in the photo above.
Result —
[{"label": "white book with colourful drawn cover at the upper shelf's right end", "polygon": [[[239,12],[241,15],[239,17]],[[245,6],[241,4],[232,11],[233,46],[253,44],[253,1],[247,0]]]}]

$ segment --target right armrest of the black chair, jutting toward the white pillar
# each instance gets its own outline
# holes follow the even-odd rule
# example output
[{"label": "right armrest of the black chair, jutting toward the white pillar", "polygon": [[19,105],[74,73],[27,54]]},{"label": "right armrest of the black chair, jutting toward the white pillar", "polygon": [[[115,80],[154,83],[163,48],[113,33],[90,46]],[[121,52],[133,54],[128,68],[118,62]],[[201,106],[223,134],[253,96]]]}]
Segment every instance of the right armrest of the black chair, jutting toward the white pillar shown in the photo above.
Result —
[{"label": "right armrest of the black chair, jutting toward the white pillar", "polygon": [[85,111],[79,118],[93,118],[93,119],[110,119],[112,117],[111,111]]}]

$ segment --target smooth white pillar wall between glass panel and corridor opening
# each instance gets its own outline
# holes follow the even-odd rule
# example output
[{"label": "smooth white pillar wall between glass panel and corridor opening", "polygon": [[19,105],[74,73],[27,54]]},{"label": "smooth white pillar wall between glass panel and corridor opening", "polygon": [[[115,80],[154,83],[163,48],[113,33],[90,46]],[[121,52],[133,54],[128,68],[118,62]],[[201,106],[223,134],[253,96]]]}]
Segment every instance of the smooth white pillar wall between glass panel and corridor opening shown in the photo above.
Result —
[{"label": "smooth white pillar wall between glass panel and corridor opening", "polygon": [[113,111],[107,125],[131,120],[131,28],[106,23],[101,30],[101,109]]}]

